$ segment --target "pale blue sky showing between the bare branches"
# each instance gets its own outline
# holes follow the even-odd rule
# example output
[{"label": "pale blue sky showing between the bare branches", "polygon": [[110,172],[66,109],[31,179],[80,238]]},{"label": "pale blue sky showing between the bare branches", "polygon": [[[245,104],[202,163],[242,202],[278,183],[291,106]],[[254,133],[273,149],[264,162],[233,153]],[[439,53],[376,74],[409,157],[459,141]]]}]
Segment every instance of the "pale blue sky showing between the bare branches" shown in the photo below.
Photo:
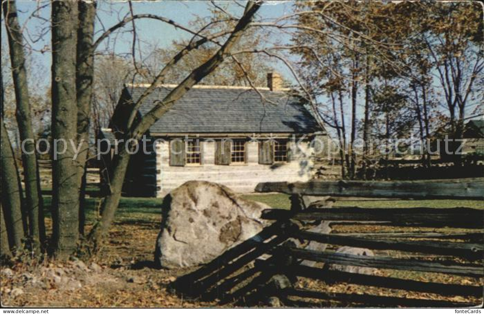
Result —
[{"label": "pale blue sky showing between the bare branches", "polygon": [[[224,7],[227,11],[236,16],[242,14],[243,8],[235,4],[233,1],[216,1],[217,5]],[[243,1],[240,3],[244,4]],[[52,55],[50,53],[41,53],[39,50],[44,47],[50,47],[51,38],[48,31],[48,23],[45,20],[50,19],[50,5],[48,2],[37,1],[17,1],[17,9],[19,11],[20,23],[24,26],[24,30],[28,30],[29,34],[26,38],[33,47],[31,58],[36,64],[41,64],[45,70],[48,70],[51,65]],[[39,7],[45,6],[38,10],[40,18],[28,18]],[[258,15],[265,19],[270,19],[282,16],[290,12],[292,1],[269,1],[264,4],[259,10]],[[137,1],[133,2],[133,9],[135,14],[154,14],[164,16],[173,21],[189,26],[190,22],[195,21],[197,16],[207,17],[211,15],[210,1],[192,0],[192,1],[175,1],[175,0],[161,0],[161,1]],[[99,1],[95,25],[95,38],[102,34],[104,29],[118,23],[123,17],[129,14],[129,6],[126,1]],[[43,20],[45,19],[45,20]],[[2,23],[3,25],[3,23]],[[125,26],[123,30],[131,30],[131,24]],[[191,34],[186,31],[175,29],[173,26],[152,19],[138,19],[136,20],[136,31],[138,40],[141,46],[150,49],[151,47],[168,47],[175,39],[191,38]],[[1,29],[2,46],[7,47],[5,28]],[[37,38],[38,34],[43,33],[42,38]],[[132,33],[118,31],[117,34],[111,34],[108,40],[105,40],[100,49],[111,45],[114,47],[116,53],[129,53],[132,46]],[[114,44],[115,43],[115,44]],[[287,69],[282,66],[276,66],[283,72],[283,75],[288,74]],[[45,85],[50,83],[50,78],[46,76]]]}]

